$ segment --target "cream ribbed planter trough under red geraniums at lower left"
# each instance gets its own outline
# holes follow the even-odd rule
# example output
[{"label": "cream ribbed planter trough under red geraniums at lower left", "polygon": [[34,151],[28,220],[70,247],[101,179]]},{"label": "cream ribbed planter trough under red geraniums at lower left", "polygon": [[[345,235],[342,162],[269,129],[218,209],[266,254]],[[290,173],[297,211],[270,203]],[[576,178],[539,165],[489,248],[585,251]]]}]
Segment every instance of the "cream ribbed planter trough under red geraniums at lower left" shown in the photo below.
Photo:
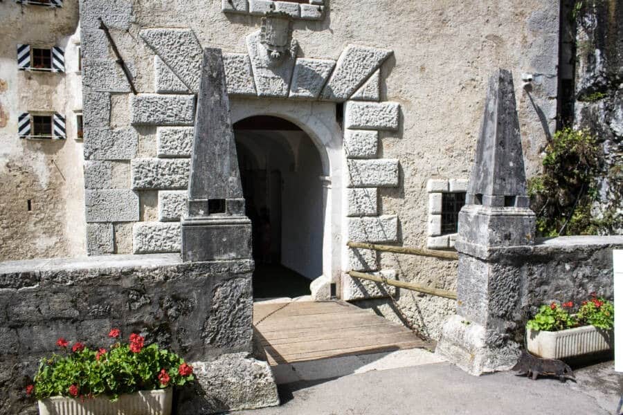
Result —
[{"label": "cream ribbed planter trough under red geraniums at lower left", "polygon": [[170,415],[172,400],[171,387],[121,395],[116,402],[108,396],[84,400],[52,396],[39,400],[39,415]]}]

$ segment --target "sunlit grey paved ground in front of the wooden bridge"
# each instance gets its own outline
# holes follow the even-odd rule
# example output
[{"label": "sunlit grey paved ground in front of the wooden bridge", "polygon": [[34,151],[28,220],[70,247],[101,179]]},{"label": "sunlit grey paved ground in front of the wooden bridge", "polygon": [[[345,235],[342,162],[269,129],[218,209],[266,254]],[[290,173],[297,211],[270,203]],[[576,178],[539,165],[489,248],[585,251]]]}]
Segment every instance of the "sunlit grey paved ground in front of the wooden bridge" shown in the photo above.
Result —
[{"label": "sunlit grey paved ground in front of the wooden bridge", "polygon": [[[433,355],[434,356],[434,355]],[[617,414],[623,374],[613,362],[576,369],[577,382],[514,372],[474,377],[447,362],[379,365],[330,380],[280,385],[280,407],[236,415]]]}]

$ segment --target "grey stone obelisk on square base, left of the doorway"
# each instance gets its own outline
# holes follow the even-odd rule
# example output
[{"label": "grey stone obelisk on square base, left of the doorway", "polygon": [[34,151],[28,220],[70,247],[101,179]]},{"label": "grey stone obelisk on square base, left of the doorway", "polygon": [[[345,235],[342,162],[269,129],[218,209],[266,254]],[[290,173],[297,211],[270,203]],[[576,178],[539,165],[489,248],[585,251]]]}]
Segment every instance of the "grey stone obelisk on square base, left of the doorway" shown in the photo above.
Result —
[{"label": "grey stone obelisk on square base, left of the doorway", "polygon": [[184,261],[251,258],[223,57],[215,48],[204,49],[181,234]]}]

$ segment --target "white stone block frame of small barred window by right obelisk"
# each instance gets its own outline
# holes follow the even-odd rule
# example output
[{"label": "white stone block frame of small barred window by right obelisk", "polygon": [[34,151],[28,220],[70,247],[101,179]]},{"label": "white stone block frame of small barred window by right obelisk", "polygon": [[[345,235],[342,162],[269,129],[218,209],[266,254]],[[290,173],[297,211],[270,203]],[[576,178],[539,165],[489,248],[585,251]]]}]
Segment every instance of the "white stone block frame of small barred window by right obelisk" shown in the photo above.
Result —
[{"label": "white stone block frame of small barred window by right obelisk", "polygon": [[426,247],[429,249],[454,248],[457,234],[442,234],[443,194],[467,192],[467,179],[431,178],[426,183],[426,192],[428,193],[428,238]]}]

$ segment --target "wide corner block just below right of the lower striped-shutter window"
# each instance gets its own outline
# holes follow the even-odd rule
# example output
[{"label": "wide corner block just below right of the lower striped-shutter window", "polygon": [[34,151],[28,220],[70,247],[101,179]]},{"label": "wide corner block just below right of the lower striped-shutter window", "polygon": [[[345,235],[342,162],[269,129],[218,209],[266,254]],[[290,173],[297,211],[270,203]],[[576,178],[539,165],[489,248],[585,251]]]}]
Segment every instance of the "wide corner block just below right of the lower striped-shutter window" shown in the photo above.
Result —
[{"label": "wide corner block just below right of the lower striped-shutter window", "polygon": [[84,158],[87,160],[130,160],[136,157],[137,150],[138,133],[133,128],[84,131]]}]

